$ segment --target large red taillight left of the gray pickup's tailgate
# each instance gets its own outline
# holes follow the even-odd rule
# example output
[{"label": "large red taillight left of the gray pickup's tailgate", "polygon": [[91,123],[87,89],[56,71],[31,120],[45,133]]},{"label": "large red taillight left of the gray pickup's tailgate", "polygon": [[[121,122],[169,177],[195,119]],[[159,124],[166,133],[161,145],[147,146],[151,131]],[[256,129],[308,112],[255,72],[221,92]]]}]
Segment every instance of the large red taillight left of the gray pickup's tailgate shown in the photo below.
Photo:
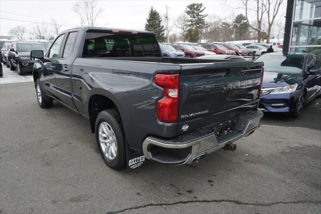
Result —
[{"label": "large red taillight left of the gray pickup's tailgate", "polygon": [[175,123],[179,114],[180,76],[156,74],[155,84],[164,89],[164,97],[157,102],[157,118],[164,123]]}]

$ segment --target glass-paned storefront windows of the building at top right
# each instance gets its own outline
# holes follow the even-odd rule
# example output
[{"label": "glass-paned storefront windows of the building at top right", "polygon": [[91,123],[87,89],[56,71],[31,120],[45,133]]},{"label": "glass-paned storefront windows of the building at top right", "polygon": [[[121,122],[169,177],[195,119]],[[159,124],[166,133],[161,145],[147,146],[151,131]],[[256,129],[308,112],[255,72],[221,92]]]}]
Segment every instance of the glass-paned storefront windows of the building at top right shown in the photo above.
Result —
[{"label": "glass-paned storefront windows of the building at top right", "polygon": [[309,52],[321,57],[321,1],[296,0],[290,52]]}]

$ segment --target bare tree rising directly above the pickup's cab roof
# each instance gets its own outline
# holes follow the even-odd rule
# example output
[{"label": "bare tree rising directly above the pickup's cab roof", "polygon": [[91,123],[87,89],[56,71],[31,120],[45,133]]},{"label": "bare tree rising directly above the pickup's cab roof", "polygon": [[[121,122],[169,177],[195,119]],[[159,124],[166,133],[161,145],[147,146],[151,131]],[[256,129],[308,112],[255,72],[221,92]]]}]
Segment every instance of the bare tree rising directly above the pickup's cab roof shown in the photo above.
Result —
[{"label": "bare tree rising directly above the pickup's cab roof", "polygon": [[81,26],[93,27],[98,16],[103,12],[96,0],[78,0],[74,5],[74,11],[79,15]]}]

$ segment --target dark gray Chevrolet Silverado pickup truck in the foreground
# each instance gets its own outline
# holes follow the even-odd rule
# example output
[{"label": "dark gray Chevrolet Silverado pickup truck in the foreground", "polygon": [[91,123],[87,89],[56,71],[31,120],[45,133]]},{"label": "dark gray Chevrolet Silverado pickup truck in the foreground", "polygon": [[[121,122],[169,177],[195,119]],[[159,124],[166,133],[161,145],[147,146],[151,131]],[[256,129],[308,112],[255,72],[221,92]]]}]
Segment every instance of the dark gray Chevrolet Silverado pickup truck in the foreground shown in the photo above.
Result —
[{"label": "dark gray Chevrolet Silverado pickup truck in the foreground", "polygon": [[263,116],[262,62],[163,58],[152,32],[71,29],[31,57],[39,106],[55,100],[87,118],[113,169],[234,150]]}]

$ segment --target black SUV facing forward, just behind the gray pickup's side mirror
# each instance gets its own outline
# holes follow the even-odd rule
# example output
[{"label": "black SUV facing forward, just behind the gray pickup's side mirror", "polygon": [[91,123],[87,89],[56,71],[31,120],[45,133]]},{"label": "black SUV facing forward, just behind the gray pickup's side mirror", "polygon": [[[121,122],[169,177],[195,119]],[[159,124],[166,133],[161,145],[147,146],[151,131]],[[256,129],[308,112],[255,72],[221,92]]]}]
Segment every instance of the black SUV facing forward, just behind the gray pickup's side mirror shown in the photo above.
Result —
[{"label": "black SUV facing forward, just behind the gray pickup's side mirror", "polygon": [[36,42],[14,42],[11,45],[8,53],[8,63],[10,70],[18,69],[19,75],[24,75],[26,72],[32,72],[34,61],[30,58],[31,50],[42,50],[45,48]]}]

